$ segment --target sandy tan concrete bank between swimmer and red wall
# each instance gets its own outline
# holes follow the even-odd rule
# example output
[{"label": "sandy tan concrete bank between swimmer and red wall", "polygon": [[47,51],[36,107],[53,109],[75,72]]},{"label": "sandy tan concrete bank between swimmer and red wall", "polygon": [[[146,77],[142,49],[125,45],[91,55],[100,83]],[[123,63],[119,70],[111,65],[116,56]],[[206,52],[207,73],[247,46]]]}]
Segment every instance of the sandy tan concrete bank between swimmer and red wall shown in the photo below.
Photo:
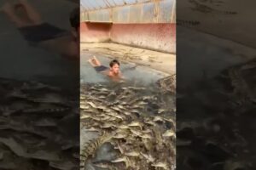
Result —
[{"label": "sandy tan concrete bank between swimmer and red wall", "polygon": [[86,51],[108,54],[120,61],[148,66],[168,75],[176,73],[176,55],[160,53],[143,48],[133,48],[117,43],[81,43],[81,53]]}]

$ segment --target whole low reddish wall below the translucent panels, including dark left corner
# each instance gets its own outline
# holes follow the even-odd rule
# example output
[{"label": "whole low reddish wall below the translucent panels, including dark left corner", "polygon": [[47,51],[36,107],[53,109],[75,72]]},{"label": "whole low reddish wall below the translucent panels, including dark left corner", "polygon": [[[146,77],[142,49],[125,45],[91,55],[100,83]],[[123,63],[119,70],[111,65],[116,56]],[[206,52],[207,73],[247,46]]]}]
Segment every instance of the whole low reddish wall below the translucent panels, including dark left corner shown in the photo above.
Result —
[{"label": "whole low reddish wall below the translucent panels, including dark left corner", "polygon": [[138,48],[176,53],[176,24],[110,24],[83,22],[81,42],[118,42]]}]

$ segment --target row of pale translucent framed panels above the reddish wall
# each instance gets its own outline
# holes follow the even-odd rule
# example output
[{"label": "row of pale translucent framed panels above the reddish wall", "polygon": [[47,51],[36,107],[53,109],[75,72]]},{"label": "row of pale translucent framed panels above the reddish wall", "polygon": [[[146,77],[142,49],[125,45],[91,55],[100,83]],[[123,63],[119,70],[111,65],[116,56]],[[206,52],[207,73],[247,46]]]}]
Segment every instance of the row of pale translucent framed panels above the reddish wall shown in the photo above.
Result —
[{"label": "row of pale translucent framed panels above the reddish wall", "polygon": [[[113,23],[175,23],[176,0],[152,0],[84,12],[85,20]],[[86,18],[86,16],[88,16]]]}]

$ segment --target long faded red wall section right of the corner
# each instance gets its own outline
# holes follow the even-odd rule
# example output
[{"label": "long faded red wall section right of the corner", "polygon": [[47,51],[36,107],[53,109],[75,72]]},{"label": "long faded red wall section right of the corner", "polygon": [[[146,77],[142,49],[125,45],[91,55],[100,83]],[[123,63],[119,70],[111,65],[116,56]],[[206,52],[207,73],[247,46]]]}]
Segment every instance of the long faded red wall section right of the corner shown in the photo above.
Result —
[{"label": "long faded red wall section right of the corner", "polygon": [[110,37],[113,42],[176,53],[176,25],[164,24],[114,24]]}]

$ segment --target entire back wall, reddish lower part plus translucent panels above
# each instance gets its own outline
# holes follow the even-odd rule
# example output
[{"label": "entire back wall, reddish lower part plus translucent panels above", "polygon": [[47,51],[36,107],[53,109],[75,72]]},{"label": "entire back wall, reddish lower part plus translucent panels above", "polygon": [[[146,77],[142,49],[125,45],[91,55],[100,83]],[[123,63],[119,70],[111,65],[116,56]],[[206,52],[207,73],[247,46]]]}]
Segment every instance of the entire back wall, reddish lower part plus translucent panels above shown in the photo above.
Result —
[{"label": "entire back wall, reddish lower part plus translucent panels above", "polygon": [[176,0],[140,1],[81,11],[81,42],[108,40],[175,54]]}]

